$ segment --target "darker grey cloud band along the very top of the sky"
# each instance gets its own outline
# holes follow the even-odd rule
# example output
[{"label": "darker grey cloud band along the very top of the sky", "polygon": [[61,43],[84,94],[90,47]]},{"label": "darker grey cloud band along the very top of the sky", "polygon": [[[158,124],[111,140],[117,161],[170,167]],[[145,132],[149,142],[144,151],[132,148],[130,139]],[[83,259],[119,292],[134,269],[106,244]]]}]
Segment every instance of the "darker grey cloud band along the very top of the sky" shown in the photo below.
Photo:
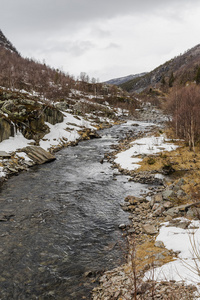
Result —
[{"label": "darker grey cloud band along the very top of the sky", "polygon": [[[161,12],[177,9],[187,0],[2,0],[2,24],[15,24],[21,30],[57,31],[62,27],[80,26],[84,22],[106,20],[124,14]],[[192,5],[198,0],[192,1]],[[32,29],[33,28],[33,29]]]}]

